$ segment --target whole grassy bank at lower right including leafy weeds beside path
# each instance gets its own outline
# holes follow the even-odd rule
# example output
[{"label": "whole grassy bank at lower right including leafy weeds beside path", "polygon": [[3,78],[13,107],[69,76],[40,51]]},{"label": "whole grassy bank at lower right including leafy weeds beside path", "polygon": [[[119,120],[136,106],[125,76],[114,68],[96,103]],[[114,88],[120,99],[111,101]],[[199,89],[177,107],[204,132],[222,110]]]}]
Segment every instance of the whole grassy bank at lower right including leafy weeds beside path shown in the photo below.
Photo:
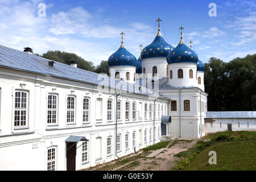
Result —
[{"label": "whole grassy bank at lower right including leafy weeds beside path", "polygon": [[[172,170],[256,170],[256,132],[224,131],[204,138],[211,140],[176,154],[181,160]],[[209,164],[209,151],[216,152],[216,165]]]}]

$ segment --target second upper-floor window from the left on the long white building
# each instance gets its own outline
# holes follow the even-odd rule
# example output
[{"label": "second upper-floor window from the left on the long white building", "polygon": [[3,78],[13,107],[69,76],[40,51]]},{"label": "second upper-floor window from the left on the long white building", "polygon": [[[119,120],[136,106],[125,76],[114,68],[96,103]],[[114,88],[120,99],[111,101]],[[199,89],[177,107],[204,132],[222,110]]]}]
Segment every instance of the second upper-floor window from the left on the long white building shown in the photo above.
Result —
[{"label": "second upper-floor window from the left on the long white building", "polygon": [[49,93],[48,94],[48,109],[47,109],[47,123],[56,123],[57,115],[57,95]]}]

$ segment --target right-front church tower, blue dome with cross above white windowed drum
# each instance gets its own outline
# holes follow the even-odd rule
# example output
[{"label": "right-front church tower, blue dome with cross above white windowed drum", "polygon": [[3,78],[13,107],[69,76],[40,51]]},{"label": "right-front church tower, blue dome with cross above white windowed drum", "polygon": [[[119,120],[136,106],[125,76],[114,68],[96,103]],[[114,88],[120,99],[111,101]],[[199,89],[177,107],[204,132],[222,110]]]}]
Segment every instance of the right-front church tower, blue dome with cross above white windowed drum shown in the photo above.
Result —
[{"label": "right-front church tower, blue dome with cross above white windowed drum", "polygon": [[198,86],[197,84],[197,61],[195,51],[188,48],[183,42],[182,30],[180,42],[167,56],[168,82],[171,86]]}]

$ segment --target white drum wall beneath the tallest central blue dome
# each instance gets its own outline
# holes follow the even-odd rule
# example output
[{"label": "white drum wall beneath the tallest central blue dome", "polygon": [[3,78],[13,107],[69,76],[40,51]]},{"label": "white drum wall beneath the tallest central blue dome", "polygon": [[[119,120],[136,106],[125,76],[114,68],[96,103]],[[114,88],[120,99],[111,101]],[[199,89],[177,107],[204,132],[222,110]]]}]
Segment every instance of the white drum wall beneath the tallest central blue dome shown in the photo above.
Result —
[{"label": "white drum wall beneath the tallest central blue dome", "polygon": [[153,71],[153,67],[155,66],[158,68],[158,75],[159,78],[166,77],[166,71],[167,71],[167,61],[166,57],[151,57],[151,58],[146,58],[142,59],[142,73],[143,73],[143,68],[145,68],[145,73],[151,73]]}]

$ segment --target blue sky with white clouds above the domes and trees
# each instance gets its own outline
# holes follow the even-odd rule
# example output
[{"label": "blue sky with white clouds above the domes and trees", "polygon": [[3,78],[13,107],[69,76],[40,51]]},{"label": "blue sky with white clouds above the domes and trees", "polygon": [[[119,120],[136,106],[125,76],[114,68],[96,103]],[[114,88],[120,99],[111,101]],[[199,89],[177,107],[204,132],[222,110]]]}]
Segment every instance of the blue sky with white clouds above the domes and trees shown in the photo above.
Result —
[{"label": "blue sky with white clouds above the domes and trees", "polygon": [[[210,3],[216,4],[216,16],[209,16]],[[256,53],[256,0],[0,0],[0,44],[20,51],[31,47],[40,55],[72,52],[98,65],[117,51],[121,32],[126,49],[138,58],[139,45],[146,47],[157,34],[158,18],[164,40],[174,47],[184,27],[184,42],[193,42],[204,63]]]}]

